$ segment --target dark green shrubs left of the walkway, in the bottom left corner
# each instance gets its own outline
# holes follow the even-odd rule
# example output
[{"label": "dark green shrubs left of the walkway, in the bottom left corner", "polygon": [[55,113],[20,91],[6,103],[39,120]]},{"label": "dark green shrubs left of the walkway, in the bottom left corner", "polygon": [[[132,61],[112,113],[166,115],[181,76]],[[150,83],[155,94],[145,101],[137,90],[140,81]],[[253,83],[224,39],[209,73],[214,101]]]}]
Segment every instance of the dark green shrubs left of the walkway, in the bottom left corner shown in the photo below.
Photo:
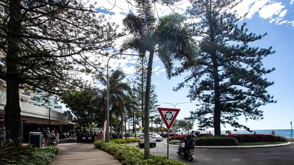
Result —
[{"label": "dark green shrubs left of the walkway, in the bottom left corner", "polygon": [[0,162],[3,165],[48,165],[55,160],[57,147],[34,148],[16,141],[1,140]]}]

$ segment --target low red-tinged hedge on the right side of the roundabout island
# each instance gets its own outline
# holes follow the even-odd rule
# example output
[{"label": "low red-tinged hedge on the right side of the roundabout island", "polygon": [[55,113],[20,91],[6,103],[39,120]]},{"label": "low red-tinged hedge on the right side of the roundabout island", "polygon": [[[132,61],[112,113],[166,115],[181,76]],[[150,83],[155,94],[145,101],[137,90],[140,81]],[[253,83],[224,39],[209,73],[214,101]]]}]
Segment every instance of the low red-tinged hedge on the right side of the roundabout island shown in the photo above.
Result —
[{"label": "low red-tinged hedge on the right side of the roundabout island", "polygon": [[265,134],[232,134],[228,135],[228,137],[232,137],[237,139],[238,142],[279,142],[279,141],[287,141],[286,138],[280,136],[273,135],[265,135]]}]

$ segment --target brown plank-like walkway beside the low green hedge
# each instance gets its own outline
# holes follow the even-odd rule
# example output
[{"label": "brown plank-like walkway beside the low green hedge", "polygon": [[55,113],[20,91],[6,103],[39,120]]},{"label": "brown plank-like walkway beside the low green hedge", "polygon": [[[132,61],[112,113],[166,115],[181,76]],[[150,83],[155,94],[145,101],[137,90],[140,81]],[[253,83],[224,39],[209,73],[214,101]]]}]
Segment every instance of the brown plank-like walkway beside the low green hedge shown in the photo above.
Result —
[{"label": "brown plank-like walkway beside the low green hedge", "polygon": [[94,143],[63,143],[57,147],[57,160],[51,165],[122,165],[113,156],[97,149]]}]

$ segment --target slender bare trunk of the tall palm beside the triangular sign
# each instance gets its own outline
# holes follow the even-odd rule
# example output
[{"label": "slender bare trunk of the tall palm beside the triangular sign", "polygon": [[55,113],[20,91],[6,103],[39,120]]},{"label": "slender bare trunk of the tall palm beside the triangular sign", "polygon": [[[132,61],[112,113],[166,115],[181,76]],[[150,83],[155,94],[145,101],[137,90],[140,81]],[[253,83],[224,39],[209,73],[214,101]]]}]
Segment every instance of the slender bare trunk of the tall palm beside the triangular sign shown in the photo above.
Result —
[{"label": "slender bare trunk of the tall palm beside the triangular sign", "polygon": [[151,88],[151,74],[152,74],[152,63],[153,63],[154,51],[149,52],[148,67],[147,67],[147,83],[145,93],[145,116],[144,120],[144,158],[150,159],[150,145],[149,145],[149,103],[150,103],[150,88]]}]

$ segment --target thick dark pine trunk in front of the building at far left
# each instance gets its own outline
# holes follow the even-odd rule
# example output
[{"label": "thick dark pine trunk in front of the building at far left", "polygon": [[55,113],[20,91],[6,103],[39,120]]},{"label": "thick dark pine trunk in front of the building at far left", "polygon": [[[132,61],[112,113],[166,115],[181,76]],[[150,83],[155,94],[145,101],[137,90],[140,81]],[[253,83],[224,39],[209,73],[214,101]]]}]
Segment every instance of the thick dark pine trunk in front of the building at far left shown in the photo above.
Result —
[{"label": "thick dark pine trunk in front of the building at far left", "polygon": [[[13,141],[22,136],[21,127],[21,107],[19,98],[18,66],[16,60],[19,58],[20,52],[20,32],[21,32],[21,0],[10,0],[9,2],[9,19],[7,22],[8,38],[6,55],[6,105],[5,111],[5,127],[7,130],[7,139]],[[10,135],[9,135],[10,134]]]}]

